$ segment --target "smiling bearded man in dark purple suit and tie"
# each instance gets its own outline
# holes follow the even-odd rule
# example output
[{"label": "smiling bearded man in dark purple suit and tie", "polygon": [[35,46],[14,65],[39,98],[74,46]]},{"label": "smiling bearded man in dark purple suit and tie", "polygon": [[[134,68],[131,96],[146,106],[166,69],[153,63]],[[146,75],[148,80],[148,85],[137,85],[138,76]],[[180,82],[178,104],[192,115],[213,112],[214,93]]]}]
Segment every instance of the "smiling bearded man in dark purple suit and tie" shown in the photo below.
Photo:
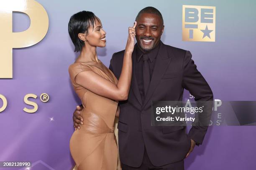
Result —
[{"label": "smiling bearded man in dark purple suit and tie", "polygon": [[[151,126],[151,101],[182,101],[184,88],[196,101],[212,101],[212,90],[197,70],[191,53],[163,44],[161,13],[142,9],[137,17],[128,100],[120,101],[118,144],[123,170],[182,170],[184,158],[202,144],[207,126]],[[113,54],[110,70],[119,78],[124,50]],[[74,112],[74,125],[81,116]]]}]

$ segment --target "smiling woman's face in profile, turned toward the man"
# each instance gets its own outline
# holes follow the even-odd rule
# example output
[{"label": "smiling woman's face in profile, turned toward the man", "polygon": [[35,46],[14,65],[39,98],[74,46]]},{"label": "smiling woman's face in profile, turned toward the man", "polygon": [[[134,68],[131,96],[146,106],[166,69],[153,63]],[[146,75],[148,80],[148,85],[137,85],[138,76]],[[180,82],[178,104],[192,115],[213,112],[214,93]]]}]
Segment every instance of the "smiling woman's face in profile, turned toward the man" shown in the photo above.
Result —
[{"label": "smiling woman's face in profile, turned toward the man", "polygon": [[102,29],[102,24],[100,22],[100,19],[97,18],[94,23],[94,28],[92,29],[92,26],[88,29],[88,33],[86,34],[86,43],[88,43],[91,46],[96,47],[105,47],[106,46],[106,32]]}]

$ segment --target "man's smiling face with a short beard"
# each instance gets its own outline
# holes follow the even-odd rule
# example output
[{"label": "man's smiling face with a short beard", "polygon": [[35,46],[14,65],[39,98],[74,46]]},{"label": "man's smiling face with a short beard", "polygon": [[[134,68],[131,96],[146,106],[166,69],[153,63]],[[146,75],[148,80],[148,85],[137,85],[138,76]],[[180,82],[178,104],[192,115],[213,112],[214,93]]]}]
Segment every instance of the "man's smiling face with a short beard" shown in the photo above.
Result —
[{"label": "man's smiling face with a short beard", "polygon": [[160,42],[164,25],[158,15],[150,13],[142,13],[136,21],[135,31],[138,46],[144,52],[148,52]]}]

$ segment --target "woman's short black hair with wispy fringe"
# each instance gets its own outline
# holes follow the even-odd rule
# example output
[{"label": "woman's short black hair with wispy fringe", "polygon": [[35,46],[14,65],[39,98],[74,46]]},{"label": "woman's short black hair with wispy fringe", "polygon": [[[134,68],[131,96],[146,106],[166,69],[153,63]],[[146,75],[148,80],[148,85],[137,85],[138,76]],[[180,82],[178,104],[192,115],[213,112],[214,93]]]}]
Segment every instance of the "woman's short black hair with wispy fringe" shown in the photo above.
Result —
[{"label": "woman's short black hair with wispy fringe", "polygon": [[90,11],[80,11],[70,17],[69,36],[74,44],[74,52],[79,52],[84,46],[84,41],[78,37],[79,33],[87,33],[90,26],[94,28],[95,20],[98,20]]}]

